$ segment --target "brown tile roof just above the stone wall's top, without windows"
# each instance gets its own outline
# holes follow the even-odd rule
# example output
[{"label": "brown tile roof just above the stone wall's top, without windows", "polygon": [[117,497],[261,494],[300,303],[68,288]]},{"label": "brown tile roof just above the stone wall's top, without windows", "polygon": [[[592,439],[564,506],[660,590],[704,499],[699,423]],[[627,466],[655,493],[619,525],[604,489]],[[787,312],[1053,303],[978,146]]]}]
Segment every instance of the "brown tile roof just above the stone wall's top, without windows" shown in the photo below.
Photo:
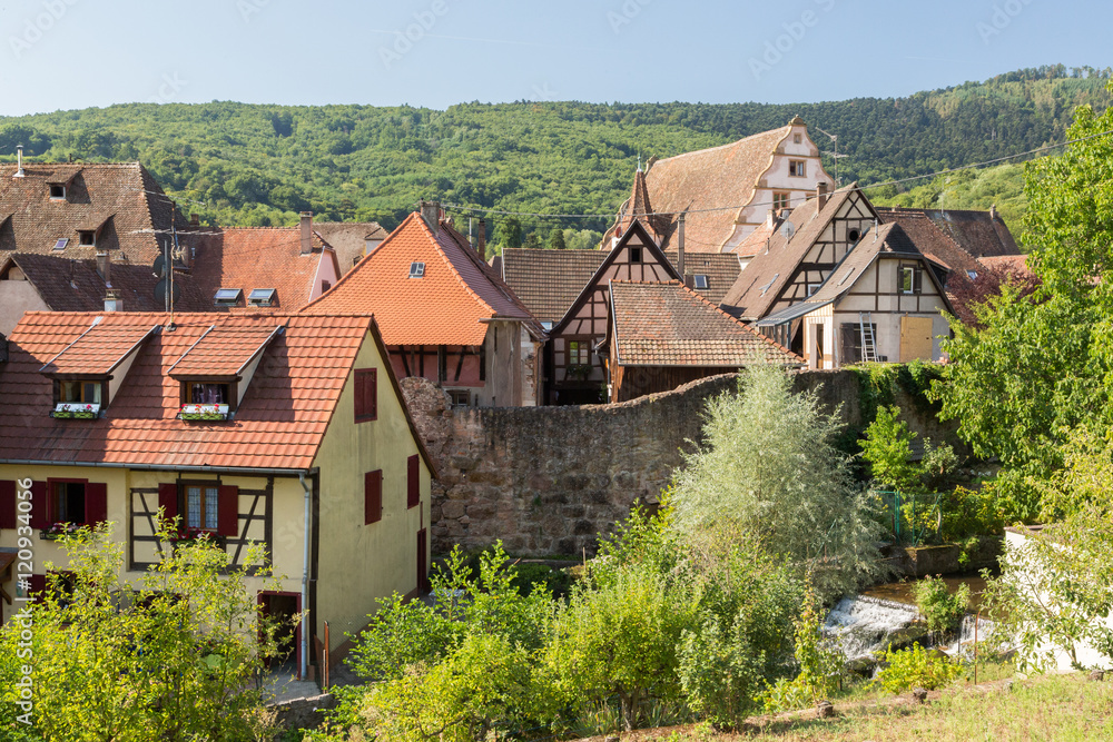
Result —
[{"label": "brown tile roof just above the stone wall's top, without windows", "polygon": [[804,363],[679,281],[611,281],[610,290],[608,340],[615,339],[614,363],[620,366],[740,368]]}]

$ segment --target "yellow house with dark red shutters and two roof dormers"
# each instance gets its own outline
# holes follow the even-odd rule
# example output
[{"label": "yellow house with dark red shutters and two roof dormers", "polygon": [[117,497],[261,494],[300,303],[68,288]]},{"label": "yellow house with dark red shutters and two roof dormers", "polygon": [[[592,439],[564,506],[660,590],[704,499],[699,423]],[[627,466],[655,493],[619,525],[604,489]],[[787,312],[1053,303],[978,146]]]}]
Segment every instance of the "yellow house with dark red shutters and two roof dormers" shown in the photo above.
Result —
[{"label": "yellow house with dark red shutters and two roof dormers", "polygon": [[[65,571],[53,536],[76,526],[115,523],[122,576],[149,570],[173,546],[161,511],[180,518],[171,541],[207,534],[234,565],[280,577],[248,588],[265,612],[307,611],[304,675],[377,598],[424,587],[433,476],[370,316],[29,313],[0,355],[8,605],[23,594],[4,571],[17,526],[32,530],[33,594],[45,564]],[[255,544],[266,563],[245,564]]]}]

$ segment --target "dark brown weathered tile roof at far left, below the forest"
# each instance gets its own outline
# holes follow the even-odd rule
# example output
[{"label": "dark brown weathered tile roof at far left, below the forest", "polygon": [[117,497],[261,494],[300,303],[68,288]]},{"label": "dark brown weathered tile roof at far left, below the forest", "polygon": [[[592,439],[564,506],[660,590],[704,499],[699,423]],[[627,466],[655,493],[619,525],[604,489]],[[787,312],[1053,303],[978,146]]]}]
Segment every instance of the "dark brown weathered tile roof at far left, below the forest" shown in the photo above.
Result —
[{"label": "dark brown weathered tile roof at far left, below the forest", "polygon": [[[150,266],[159,255],[159,234],[179,229],[185,218],[138,162],[81,165],[24,162],[24,177],[13,178],[14,165],[0,165],[0,222],[11,217],[11,231],[0,230],[0,253],[53,254],[55,244],[69,240],[60,253],[68,258],[92,258],[92,247],[79,245],[79,229],[105,225],[98,247],[119,250],[117,261]],[[68,184],[66,200],[51,200],[50,184]]]}]

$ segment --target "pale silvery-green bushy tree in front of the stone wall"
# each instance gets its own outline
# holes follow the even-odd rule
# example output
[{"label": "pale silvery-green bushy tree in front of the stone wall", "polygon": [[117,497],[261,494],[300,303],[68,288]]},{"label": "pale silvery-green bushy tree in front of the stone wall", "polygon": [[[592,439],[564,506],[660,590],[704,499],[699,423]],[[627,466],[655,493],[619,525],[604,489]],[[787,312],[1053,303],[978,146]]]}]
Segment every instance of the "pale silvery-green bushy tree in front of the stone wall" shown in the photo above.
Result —
[{"label": "pale silvery-green bushy tree in front of the stone wall", "polygon": [[706,444],[676,477],[677,528],[696,547],[757,538],[827,598],[881,572],[880,532],[831,444],[837,417],[790,386],[784,372],[755,367],[738,394],[708,403]]}]

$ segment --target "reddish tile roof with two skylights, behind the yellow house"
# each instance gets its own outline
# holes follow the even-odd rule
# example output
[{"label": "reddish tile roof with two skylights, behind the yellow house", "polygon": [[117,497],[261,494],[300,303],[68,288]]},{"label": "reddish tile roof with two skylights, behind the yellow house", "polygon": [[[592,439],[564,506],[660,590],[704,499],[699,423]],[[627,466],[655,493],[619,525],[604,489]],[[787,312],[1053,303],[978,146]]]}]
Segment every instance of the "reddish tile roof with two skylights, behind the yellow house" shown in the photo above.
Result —
[{"label": "reddish tile roof with two skylights, behind the yellow house", "polygon": [[[191,278],[213,307],[219,288],[238,288],[243,300],[252,289],[277,291],[274,307],[298,311],[314,293],[323,264],[336,264],[336,256],[319,235],[313,237],[313,251],[302,255],[298,227],[225,227],[195,237],[197,250]],[[339,275],[339,270],[336,270]]]}]

